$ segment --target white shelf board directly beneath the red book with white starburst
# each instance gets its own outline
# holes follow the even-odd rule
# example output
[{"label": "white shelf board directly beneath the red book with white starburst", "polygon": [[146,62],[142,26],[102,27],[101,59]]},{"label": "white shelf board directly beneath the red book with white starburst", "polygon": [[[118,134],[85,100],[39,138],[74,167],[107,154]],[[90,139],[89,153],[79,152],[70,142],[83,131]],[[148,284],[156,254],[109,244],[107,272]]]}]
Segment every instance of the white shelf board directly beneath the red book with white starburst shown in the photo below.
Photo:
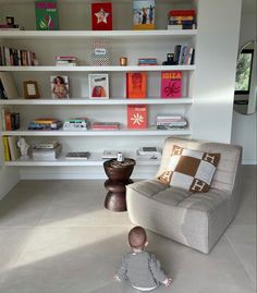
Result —
[{"label": "white shelf board directly beneath the red book with white starburst", "polygon": [[119,131],[3,131],[1,135],[10,136],[170,136],[191,135],[191,130],[119,130]]}]

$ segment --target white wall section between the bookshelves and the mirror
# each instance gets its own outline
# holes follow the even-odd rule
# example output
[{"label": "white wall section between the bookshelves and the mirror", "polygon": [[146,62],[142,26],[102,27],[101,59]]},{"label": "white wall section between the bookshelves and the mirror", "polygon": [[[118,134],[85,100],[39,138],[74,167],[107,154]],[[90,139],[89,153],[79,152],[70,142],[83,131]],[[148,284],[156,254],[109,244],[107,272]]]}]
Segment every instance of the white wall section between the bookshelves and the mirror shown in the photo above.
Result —
[{"label": "white wall section between the bookshelves and the mirror", "polygon": [[241,0],[199,1],[193,137],[230,143]]}]

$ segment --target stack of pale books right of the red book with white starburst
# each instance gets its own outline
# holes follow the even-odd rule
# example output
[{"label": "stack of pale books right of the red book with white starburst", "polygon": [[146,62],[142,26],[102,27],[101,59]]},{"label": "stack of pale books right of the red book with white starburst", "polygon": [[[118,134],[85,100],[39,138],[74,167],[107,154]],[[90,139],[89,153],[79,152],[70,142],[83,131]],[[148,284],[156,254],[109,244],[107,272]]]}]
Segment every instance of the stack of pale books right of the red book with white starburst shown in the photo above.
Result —
[{"label": "stack of pale books right of the red book with white starburst", "polygon": [[187,121],[180,114],[159,114],[156,118],[157,130],[185,129]]}]

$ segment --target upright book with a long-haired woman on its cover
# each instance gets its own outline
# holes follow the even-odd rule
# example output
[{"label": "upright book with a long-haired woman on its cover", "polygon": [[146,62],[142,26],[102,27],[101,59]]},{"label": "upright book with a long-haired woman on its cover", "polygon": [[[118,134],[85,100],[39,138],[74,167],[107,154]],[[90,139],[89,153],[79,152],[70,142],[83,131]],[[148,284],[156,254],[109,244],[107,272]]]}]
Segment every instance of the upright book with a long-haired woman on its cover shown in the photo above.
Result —
[{"label": "upright book with a long-haired woman on its cover", "polygon": [[53,99],[69,99],[69,78],[66,75],[51,76],[51,93]]}]

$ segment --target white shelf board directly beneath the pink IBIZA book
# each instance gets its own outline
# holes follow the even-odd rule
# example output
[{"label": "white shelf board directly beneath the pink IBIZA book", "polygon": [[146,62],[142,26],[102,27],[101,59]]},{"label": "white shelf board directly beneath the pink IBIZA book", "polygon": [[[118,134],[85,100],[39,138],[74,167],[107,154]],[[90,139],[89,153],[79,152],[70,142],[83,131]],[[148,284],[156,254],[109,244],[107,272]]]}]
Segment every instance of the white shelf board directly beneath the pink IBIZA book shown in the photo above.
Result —
[{"label": "white shelf board directly beneath the pink IBIZA book", "polygon": [[183,97],[175,99],[162,99],[162,98],[146,98],[146,99],[126,99],[126,98],[110,98],[110,99],[2,99],[0,105],[192,105],[193,98]]}]

